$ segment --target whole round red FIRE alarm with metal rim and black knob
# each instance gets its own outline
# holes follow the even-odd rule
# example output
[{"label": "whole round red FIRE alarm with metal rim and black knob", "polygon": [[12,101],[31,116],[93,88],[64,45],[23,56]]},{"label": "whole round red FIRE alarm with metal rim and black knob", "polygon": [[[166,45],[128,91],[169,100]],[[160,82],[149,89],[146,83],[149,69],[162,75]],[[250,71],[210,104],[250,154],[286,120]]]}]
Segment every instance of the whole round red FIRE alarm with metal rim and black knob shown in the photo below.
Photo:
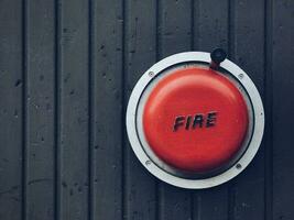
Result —
[{"label": "whole round red FIRE alarm with metal rim and black knob", "polygon": [[264,112],[249,76],[226,59],[187,52],[154,64],[137,82],[128,136],[154,176],[183,188],[209,188],[240,174],[260,146]]}]

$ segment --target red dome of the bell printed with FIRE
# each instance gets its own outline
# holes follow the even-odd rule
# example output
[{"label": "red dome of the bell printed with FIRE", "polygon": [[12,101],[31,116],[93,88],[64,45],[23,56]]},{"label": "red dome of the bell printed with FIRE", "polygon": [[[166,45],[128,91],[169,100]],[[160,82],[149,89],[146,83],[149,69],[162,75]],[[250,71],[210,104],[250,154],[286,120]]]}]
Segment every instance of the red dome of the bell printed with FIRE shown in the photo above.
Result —
[{"label": "red dome of the bell printed with FIRE", "polygon": [[207,173],[228,164],[248,130],[242,94],[208,67],[174,70],[148,97],[143,131],[155,153],[178,169]]}]

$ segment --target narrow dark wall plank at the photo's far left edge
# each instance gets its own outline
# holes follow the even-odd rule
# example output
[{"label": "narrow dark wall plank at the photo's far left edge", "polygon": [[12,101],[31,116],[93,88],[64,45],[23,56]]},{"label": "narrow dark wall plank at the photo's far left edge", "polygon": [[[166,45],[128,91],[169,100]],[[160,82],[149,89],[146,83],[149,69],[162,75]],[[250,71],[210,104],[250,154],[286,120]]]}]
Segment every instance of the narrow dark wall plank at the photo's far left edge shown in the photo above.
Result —
[{"label": "narrow dark wall plank at the photo's far left edge", "polygon": [[0,219],[22,219],[22,1],[0,2]]}]

